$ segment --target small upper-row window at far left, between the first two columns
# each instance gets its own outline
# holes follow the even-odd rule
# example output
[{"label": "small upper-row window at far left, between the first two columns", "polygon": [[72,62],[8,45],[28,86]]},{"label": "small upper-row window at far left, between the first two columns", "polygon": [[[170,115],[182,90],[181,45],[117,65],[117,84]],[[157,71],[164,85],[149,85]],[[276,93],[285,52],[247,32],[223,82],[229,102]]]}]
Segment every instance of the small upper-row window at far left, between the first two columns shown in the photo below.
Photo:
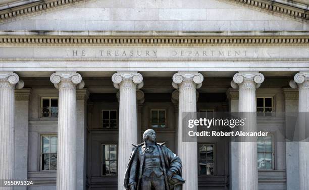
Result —
[{"label": "small upper-row window at far left, between the first two columns", "polygon": [[42,98],[41,108],[41,117],[58,117],[58,98]]}]

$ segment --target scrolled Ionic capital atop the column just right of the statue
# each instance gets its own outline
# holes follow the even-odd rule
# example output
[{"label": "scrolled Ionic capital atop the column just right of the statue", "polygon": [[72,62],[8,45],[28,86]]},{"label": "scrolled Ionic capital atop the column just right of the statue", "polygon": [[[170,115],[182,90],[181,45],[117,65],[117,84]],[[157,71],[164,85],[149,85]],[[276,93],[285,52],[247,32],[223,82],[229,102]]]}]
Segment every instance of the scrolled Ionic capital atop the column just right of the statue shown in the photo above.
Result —
[{"label": "scrolled Ionic capital atop the column just right of the statue", "polygon": [[178,72],[173,76],[173,87],[178,89],[182,82],[193,82],[195,88],[200,88],[204,77],[198,72]]}]

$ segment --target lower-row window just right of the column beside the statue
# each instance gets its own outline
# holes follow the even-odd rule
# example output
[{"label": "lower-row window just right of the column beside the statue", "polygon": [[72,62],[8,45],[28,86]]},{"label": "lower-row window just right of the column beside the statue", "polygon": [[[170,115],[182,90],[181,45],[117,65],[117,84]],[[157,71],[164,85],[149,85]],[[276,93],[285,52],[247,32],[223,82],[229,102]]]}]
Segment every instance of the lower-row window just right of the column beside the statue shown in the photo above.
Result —
[{"label": "lower-row window just right of the column beside the statue", "polygon": [[214,175],[215,173],[215,145],[198,145],[198,173],[199,175]]}]

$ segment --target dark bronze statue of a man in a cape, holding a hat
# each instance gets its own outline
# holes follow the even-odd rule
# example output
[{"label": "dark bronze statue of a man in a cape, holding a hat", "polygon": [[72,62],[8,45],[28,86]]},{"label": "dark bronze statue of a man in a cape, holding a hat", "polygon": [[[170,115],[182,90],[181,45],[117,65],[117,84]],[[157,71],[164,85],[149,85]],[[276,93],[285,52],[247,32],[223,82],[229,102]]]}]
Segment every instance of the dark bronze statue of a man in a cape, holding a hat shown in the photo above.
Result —
[{"label": "dark bronze statue of a man in a cape, holding a hat", "polygon": [[182,163],[178,156],[156,143],[156,132],[145,130],[144,143],[133,145],[133,151],[125,173],[127,190],[181,190]]}]

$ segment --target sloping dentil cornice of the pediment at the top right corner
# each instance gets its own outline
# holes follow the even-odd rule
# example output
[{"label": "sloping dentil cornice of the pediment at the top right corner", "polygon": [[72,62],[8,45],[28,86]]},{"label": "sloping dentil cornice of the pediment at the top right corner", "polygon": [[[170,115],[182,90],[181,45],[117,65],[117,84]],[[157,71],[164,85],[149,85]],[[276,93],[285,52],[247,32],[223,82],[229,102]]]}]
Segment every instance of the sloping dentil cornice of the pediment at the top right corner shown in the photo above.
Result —
[{"label": "sloping dentil cornice of the pediment at the top right corner", "polygon": [[268,0],[221,0],[249,8],[259,9],[264,12],[289,17],[302,22],[309,22],[309,11]]}]

